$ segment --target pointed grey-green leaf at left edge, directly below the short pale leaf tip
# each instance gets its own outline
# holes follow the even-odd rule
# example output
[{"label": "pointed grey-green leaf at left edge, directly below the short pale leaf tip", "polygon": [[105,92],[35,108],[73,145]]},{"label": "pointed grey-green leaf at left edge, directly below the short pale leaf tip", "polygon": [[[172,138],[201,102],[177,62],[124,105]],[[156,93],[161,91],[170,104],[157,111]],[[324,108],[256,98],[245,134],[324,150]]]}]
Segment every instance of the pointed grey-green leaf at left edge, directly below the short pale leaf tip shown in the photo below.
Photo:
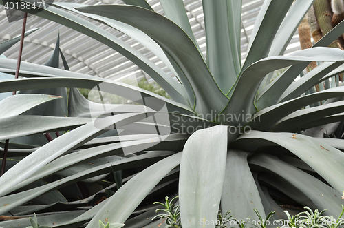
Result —
[{"label": "pointed grey-green leaf at left edge, directly below the short pale leaf tip", "polygon": [[0,118],[0,140],[30,134],[74,129],[91,121],[92,119],[90,118],[65,118],[56,116],[10,116]]}]

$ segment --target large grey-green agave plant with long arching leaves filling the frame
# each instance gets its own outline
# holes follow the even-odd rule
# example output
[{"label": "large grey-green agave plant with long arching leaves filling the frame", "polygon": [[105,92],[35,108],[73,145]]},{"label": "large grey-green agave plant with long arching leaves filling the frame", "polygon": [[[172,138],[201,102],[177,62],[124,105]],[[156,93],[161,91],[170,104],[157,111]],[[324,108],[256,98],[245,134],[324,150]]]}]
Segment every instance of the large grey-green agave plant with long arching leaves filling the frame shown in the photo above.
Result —
[{"label": "large grey-green agave plant with long arching leaves filling the frame", "polygon": [[[0,81],[0,92],[48,89],[45,93],[54,95],[50,91],[71,87],[68,112],[67,117],[40,114],[44,105],[66,110],[65,95],[55,99],[55,105],[49,101],[37,107],[32,94],[1,101],[0,139],[10,139],[8,158],[20,161],[0,178],[0,214],[63,211],[39,216],[42,225],[50,227],[98,227],[99,220],[125,223],[125,227],[160,227],[164,220],[151,223],[159,208],[153,202],[176,194],[182,227],[199,227],[200,222],[214,227],[211,221],[217,220],[219,209],[232,211],[233,219],[248,227],[252,225],[246,219],[258,220],[255,211],[261,218],[270,211],[276,212],[273,218],[283,218],[279,203],[328,209],[330,214],[340,211],[344,147],[338,139],[343,134],[338,122],[343,121],[344,89],[332,85],[304,93],[344,71],[343,51],[325,48],[344,32],[344,23],[313,48],[283,56],[313,0],[266,0],[241,65],[241,0],[202,1],[206,56],[195,41],[182,0],[160,0],[166,17],[144,0],[123,1],[127,5],[55,2],[48,8],[24,10],[120,52],[171,99],[70,72],[63,56],[65,70],[21,63],[23,78]],[[8,2],[0,0],[3,5]],[[175,77],[90,20],[142,43]],[[56,63],[58,45],[53,59],[50,62]],[[295,81],[310,61],[324,63]],[[14,74],[15,66],[14,60],[0,59],[3,73]],[[281,68],[287,69],[269,83],[270,73]],[[139,104],[92,103],[76,87]],[[313,105],[324,100],[323,105]],[[23,114],[31,108],[36,110]],[[32,143],[34,138],[25,142],[20,138],[57,131],[61,136],[39,145]],[[323,133],[338,136],[323,138]],[[116,183],[106,177],[112,171]],[[60,194],[82,189],[80,181],[85,188],[85,182],[89,186],[101,180],[113,180],[113,184],[102,182],[105,189],[82,200],[68,201]],[[0,222],[0,226],[24,225],[24,219]]]}]

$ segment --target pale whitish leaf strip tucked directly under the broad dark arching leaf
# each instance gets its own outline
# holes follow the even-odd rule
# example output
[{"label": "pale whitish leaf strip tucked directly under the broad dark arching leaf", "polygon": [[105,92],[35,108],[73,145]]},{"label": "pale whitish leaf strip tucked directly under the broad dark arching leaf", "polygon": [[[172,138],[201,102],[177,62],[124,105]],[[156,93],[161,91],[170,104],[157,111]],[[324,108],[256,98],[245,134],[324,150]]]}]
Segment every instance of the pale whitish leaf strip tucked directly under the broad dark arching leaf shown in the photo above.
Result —
[{"label": "pale whitish leaf strip tucked directly under the broad dark arching leaf", "polygon": [[[116,30],[119,30],[125,34],[127,34],[129,37],[132,37],[144,47],[146,47],[148,50],[150,50],[153,54],[158,56],[159,59],[161,59],[171,70],[173,70],[173,73],[175,75],[178,75],[177,72],[175,72],[173,66],[171,65],[169,59],[166,57],[166,54],[162,51],[160,46],[153,41],[147,34],[144,34],[144,32],[141,32],[140,30],[133,28],[130,25],[127,25],[125,23],[122,23],[120,21],[115,21],[112,19],[108,19],[106,17],[100,17],[95,14],[85,14],[83,12],[80,12],[78,10],[75,10],[74,8],[77,7],[85,7],[88,5],[85,4],[79,4],[79,3],[54,3],[54,6],[59,6],[61,8],[65,8],[67,10],[70,10],[72,12],[77,12],[78,14],[82,14],[85,17],[89,17],[91,19],[94,19],[96,21],[100,21],[102,23],[105,23],[109,25],[112,28],[115,28]],[[180,103],[186,103],[185,99],[187,99],[187,94],[178,81],[175,81],[172,79],[171,76],[168,74],[161,72],[160,74],[150,74],[152,78],[161,85],[164,90],[171,96],[171,98],[175,101],[178,101]]]}]

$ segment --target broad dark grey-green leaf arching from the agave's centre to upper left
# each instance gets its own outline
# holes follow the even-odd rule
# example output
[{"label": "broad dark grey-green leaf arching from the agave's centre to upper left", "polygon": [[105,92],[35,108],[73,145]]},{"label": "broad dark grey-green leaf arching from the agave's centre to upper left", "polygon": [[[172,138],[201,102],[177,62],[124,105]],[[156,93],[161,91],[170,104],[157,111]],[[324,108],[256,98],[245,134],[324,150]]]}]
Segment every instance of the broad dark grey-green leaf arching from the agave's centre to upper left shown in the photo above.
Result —
[{"label": "broad dark grey-green leaf arching from the agave's centre to upper left", "polygon": [[[197,113],[207,114],[211,110],[220,112],[228,102],[227,97],[215,83],[193,41],[169,19],[155,12],[130,6],[90,6],[76,8],[76,10],[125,22],[154,39],[184,72],[186,79],[181,78],[180,80],[183,84],[190,83],[193,88]],[[135,17],[132,17],[133,15]],[[166,32],[169,33],[169,36],[166,36]],[[189,58],[189,56],[193,56],[193,58]],[[194,67],[195,65],[197,68]]]}]

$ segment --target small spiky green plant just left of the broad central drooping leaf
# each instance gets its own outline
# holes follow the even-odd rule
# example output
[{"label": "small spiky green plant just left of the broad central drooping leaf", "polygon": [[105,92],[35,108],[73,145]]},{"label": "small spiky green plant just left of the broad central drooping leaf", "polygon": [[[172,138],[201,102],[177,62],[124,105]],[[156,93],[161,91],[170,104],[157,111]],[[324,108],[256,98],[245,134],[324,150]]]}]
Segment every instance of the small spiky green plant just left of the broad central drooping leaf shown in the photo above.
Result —
[{"label": "small spiky green plant just left of the broad central drooping leaf", "polygon": [[160,202],[154,202],[154,204],[159,204],[164,207],[164,209],[156,209],[155,212],[158,213],[158,211],[164,212],[164,214],[158,214],[157,216],[154,216],[152,220],[155,220],[155,218],[166,218],[166,224],[167,226],[165,228],[170,227],[182,227],[180,223],[180,211],[179,211],[179,205],[175,206],[173,204],[173,201],[176,200],[178,196],[175,196],[171,201],[169,200],[169,196],[165,197],[165,203]]}]

